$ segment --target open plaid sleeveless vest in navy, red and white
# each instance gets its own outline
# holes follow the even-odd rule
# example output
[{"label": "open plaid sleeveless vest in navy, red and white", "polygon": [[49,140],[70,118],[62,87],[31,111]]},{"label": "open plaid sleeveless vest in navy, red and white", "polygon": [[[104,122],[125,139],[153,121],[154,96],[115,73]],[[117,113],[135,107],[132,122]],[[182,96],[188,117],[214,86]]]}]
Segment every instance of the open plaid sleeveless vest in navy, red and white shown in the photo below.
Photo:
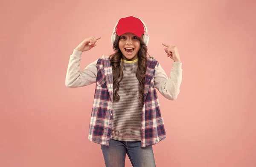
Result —
[{"label": "open plaid sleeveless vest in navy, red and white", "polygon": [[[154,88],[154,73],[158,64],[155,59],[148,59],[141,118],[141,147],[157,144],[166,138],[160,104]],[[109,146],[113,112],[113,71],[110,60],[105,57],[99,59],[97,69],[88,139]]]}]

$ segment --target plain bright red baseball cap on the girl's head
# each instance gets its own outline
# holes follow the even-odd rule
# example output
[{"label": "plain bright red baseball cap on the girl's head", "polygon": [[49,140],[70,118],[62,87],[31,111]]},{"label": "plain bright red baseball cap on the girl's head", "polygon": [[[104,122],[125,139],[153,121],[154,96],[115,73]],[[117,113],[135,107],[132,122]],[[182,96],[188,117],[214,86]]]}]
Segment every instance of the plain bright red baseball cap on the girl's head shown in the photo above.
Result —
[{"label": "plain bright red baseball cap on the girl's head", "polygon": [[118,36],[125,33],[133,33],[138,37],[144,34],[143,23],[137,17],[129,16],[121,18],[116,26],[116,34]]}]

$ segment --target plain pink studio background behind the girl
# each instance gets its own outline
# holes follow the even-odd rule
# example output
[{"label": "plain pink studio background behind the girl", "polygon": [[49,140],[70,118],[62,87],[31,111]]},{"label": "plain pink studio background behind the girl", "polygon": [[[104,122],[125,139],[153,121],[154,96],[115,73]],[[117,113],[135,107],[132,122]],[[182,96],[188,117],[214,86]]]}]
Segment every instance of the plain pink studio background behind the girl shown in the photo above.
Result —
[{"label": "plain pink studio background behind the girl", "polygon": [[[107,7],[110,6],[110,7]],[[70,54],[85,38],[81,69],[112,53],[121,17],[148,26],[149,54],[169,76],[163,42],[176,45],[183,81],[159,93],[167,138],[157,167],[256,166],[256,3],[253,0],[14,1],[0,7],[0,167],[103,167],[87,139],[95,85],[70,89]],[[131,167],[127,157],[126,167]]]}]

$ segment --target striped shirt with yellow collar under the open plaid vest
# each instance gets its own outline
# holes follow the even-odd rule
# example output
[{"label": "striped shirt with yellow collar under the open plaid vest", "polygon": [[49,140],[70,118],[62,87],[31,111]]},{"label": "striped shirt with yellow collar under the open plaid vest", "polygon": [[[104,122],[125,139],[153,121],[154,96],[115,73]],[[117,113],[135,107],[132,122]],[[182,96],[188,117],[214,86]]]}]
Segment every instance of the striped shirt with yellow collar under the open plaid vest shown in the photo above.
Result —
[{"label": "striped shirt with yellow collar under the open plaid vest", "polygon": [[118,94],[120,99],[118,102],[113,102],[111,139],[120,141],[141,140],[143,106],[139,103],[140,92],[139,81],[136,77],[137,66],[137,59],[134,61],[125,60],[122,69],[123,79],[119,83]]}]

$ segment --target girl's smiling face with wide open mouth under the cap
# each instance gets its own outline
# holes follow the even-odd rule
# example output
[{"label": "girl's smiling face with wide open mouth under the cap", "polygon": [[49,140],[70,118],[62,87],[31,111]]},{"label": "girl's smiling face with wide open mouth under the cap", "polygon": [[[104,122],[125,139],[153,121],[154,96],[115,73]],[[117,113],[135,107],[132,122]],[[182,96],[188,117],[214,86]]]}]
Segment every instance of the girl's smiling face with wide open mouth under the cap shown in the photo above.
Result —
[{"label": "girl's smiling face with wide open mouth under the cap", "polygon": [[133,61],[138,58],[140,50],[140,38],[132,33],[121,35],[119,40],[119,49],[123,54],[123,59]]}]

